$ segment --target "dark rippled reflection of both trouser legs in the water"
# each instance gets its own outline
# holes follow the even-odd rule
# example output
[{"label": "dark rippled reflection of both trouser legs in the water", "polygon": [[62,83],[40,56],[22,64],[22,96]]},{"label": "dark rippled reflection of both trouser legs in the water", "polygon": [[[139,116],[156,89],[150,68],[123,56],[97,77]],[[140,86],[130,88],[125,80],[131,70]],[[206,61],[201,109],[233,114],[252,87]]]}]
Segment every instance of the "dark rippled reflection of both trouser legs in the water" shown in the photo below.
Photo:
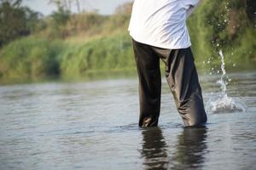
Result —
[{"label": "dark rippled reflection of both trouser legs in the water", "polygon": [[[160,127],[143,129],[143,169],[201,169],[207,153],[207,128],[184,127],[175,148],[168,148]],[[174,150],[168,155],[168,150]]]}]

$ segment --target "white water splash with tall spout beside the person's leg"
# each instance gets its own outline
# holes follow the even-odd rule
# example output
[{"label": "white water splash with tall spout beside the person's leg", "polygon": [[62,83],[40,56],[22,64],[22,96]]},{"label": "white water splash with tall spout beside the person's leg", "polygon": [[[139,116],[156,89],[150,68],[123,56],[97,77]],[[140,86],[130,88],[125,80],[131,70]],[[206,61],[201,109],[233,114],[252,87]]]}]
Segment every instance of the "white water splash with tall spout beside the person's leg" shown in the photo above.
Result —
[{"label": "white water splash with tall spout beside the person's leg", "polygon": [[227,94],[227,85],[226,81],[228,78],[226,76],[225,63],[224,63],[224,54],[222,50],[219,50],[219,55],[221,59],[221,71],[222,76],[220,80],[217,81],[220,86],[221,93],[217,97],[212,97],[207,102],[207,112],[209,113],[220,113],[220,112],[235,112],[235,111],[246,111],[246,106],[241,102],[232,99]]}]

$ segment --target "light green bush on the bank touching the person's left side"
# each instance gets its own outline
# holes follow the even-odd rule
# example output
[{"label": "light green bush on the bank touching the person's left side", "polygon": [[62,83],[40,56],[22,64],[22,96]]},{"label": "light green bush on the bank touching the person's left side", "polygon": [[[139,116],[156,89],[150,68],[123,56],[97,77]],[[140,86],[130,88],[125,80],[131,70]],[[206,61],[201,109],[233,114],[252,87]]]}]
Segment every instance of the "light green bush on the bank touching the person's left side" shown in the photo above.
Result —
[{"label": "light green bush on the bank touching the person's left side", "polygon": [[131,39],[126,33],[102,37],[77,47],[72,45],[61,56],[63,77],[134,67]]}]

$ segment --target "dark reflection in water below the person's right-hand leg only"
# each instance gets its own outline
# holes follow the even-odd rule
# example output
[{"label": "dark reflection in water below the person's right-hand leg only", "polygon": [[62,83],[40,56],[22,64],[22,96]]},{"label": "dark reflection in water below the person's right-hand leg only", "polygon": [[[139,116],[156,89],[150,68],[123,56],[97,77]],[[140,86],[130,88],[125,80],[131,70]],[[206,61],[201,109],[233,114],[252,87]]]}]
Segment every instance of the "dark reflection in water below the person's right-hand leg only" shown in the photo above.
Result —
[{"label": "dark reflection in water below the person's right-hand leg only", "polygon": [[184,127],[177,136],[176,152],[171,157],[172,169],[201,169],[207,153],[207,127]]}]

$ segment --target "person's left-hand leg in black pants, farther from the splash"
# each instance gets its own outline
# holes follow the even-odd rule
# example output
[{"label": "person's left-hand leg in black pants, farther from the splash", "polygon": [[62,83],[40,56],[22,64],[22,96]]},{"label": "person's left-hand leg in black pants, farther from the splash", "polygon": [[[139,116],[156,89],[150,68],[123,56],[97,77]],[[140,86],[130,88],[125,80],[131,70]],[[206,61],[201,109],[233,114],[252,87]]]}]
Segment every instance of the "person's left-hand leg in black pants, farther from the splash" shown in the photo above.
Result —
[{"label": "person's left-hand leg in black pants, farther from the splash", "polygon": [[160,116],[160,58],[151,46],[133,40],[140,99],[140,127],[154,127]]}]

